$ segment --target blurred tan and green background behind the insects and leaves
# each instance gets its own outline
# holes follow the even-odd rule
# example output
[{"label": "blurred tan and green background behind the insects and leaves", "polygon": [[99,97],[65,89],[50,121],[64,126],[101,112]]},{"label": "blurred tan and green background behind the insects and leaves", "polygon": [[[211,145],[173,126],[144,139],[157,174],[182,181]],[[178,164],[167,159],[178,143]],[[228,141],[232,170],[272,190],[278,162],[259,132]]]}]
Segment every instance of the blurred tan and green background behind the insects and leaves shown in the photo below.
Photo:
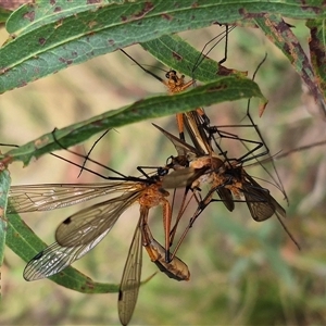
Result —
[{"label": "blurred tan and green background behind the insects and leaves", "polygon": [[[304,24],[290,23],[306,47],[309,35]],[[214,26],[183,33],[181,36],[200,50],[220,32]],[[4,41],[5,37],[2,29],[1,40]],[[126,50],[141,64],[160,66],[139,46]],[[223,51],[222,43],[210,57],[218,61]],[[229,35],[225,65],[248,71],[251,76],[265,52],[267,61],[261,67],[256,82],[269,103],[263,117],[259,118],[258,103],[252,102],[251,114],[271,153],[326,139],[324,122],[300,77],[259,30],[236,28]],[[155,72],[164,77],[164,73]],[[97,58],[2,95],[0,142],[22,145],[54,127],[61,128],[165,91],[163,85],[120,52]],[[241,122],[246,106],[246,101],[238,101],[205,108],[205,111],[212,125],[230,125]],[[110,131],[93,150],[92,159],[126,175],[138,175],[138,165],[164,164],[175,150],[151,123],[176,134],[174,117],[129,125]],[[248,129],[234,129],[234,133],[241,133],[244,137]],[[90,139],[74,150],[85,153],[95,140]],[[7,151],[4,147],[1,149]],[[289,197],[288,208],[275,187],[259,181],[268,187],[287,209],[286,224],[300,242],[301,251],[276,218],[256,223],[244,203],[237,203],[233,213],[218,202],[212,203],[196,222],[178,252],[190,268],[190,280],[176,283],[159,273],[141,287],[131,324],[325,324],[324,151],[324,147],[311,148],[276,161]],[[82,161],[63,151],[61,153],[75,162]],[[50,155],[25,168],[21,163],[12,164],[10,171],[13,185],[101,181],[88,173],[77,178],[78,168]],[[248,167],[247,171],[258,176],[262,168]],[[261,177],[268,178],[264,174]],[[24,214],[23,217],[37,235],[50,243],[59,223],[80,208],[83,205]],[[137,205],[130,208],[110,235],[74,266],[97,281],[117,284],[138,214]],[[151,220],[153,234],[162,236],[160,211],[153,210],[152,215],[155,215]],[[160,236],[158,238],[162,240]],[[7,249],[1,269],[0,325],[118,325],[117,294],[83,294],[48,279],[26,283],[22,277],[24,266],[25,263]],[[155,265],[145,253],[142,277],[155,271]]]}]

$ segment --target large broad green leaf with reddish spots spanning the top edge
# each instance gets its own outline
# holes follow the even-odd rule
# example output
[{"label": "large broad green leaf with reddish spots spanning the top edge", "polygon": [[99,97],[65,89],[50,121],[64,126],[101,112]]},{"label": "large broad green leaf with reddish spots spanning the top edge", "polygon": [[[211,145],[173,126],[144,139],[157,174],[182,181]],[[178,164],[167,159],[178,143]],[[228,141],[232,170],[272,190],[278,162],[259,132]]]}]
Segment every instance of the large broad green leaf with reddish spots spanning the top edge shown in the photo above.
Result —
[{"label": "large broad green leaf with reddish spots spanning the top edge", "polygon": [[0,49],[0,92],[118,48],[217,22],[233,24],[265,13],[294,18],[326,16],[322,0],[305,4],[278,0],[88,2],[62,0],[49,5],[38,1],[10,16],[7,26],[12,35]]}]

